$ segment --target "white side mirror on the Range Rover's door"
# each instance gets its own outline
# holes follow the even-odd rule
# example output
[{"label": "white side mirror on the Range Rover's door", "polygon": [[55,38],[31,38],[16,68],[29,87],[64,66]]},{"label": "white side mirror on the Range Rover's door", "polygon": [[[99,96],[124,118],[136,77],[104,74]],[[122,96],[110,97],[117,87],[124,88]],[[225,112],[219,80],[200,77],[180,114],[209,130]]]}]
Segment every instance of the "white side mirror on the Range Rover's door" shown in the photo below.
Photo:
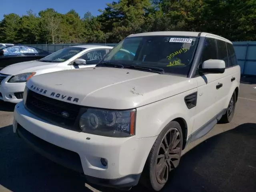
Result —
[{"label": "white side mirror on the Range Rover's door", "polygon": [[200,71],[205,73],[224,73],[225,68],[226,65],[224,60],[209,59],[203,62]]}]

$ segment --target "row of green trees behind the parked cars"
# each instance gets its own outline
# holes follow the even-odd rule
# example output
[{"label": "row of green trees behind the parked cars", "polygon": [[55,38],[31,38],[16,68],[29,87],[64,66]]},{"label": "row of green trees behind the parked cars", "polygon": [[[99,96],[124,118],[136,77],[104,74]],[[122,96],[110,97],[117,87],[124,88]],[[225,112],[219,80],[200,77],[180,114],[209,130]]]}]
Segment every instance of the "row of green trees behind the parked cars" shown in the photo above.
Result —
[{"label": "row of green trees behind the parked cars", "polygon": [[80,18],[75,10],[60,14],[52,8],[36,16],[4,15],[0,40],[29,43],[119,42],[148,31],[209,32],[232,41],[256,40],[255,0],[116,0]]}]

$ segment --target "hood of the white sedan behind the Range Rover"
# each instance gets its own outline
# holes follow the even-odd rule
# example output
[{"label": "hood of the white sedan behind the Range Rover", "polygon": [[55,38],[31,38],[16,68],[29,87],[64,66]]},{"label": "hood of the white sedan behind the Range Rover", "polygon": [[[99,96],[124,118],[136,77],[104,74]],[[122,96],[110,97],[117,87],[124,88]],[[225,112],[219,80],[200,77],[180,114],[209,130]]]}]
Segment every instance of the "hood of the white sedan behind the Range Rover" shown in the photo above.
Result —
[{"label": "hood of the white sedan behind the Range Rover", "polygon": [[0,73],[7,75],[17,75],[22,73],[34,72],[36,70],[50,68],[56,66],[58,63],[48,63],[40,61],[26,61],[9,65],[3,68]]}]

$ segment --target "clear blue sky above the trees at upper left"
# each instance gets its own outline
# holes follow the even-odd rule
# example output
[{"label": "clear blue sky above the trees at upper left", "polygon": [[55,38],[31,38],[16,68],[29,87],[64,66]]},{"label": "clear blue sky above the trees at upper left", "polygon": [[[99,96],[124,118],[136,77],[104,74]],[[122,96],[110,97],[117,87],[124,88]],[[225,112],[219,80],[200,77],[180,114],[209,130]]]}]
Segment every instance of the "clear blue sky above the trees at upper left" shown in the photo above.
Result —
[{"label": "clear blue sky above the trees at upper left", "polygon": [[59,13],[65,14],[74,9],[80,17],[83,17],[87,11],[96,16],[100,14],[99,9],[104,9],[106,3],[113,0],[0,0],[0,20],[4,14],[16,13],[20,16],[25,15],[28,10],[38,14],[40,10],[54,8]]}]

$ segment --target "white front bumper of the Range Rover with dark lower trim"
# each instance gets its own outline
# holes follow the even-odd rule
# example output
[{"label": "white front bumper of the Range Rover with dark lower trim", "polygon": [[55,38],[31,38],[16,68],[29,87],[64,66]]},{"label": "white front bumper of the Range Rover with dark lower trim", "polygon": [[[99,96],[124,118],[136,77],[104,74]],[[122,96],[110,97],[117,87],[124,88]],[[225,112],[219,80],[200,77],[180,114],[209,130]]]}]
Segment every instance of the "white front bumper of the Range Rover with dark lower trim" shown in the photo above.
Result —
[{"label": "white front bumper of the Range Rover with dark lower trim", "polygon": [[[22,102],[15,107],[13,125],[14,132],[50,160],[81,172],[90,183],[115,188],[138,184],[156,139],[110,138],[67,130],[34,116]],[[101,158],[108,161],[107,166]]]}]

